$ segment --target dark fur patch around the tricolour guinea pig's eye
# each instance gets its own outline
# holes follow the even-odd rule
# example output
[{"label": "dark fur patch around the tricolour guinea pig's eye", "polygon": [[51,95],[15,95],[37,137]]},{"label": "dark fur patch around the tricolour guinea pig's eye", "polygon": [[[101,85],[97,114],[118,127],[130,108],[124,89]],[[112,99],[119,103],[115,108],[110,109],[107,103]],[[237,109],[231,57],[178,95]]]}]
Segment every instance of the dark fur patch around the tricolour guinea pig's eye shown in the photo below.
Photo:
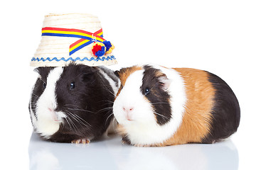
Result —
[{"label": "dark fur patch around the tricolour guinea pig's eye", "polygon": [[[160,70],[147,65],[144,69],[141,92],[153,106],[157,123],[164,125],[171,119],[170,95],[164,90],[164,84],[159,80],[159,75],[156,75]],[[161,74],[161,77],[166,77],[166,75]],[[145,94],[147,88],[150,89],[149,94]]]}]

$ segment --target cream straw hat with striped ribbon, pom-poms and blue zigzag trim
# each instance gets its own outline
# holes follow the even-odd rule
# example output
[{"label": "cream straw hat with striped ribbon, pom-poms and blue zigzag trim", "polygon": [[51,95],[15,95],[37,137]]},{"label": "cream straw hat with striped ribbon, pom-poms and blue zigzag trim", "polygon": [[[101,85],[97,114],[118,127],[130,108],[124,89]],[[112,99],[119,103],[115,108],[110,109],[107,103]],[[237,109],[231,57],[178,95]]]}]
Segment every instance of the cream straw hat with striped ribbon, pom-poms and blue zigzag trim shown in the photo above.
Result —
[{"label": "cream straw hat with striped ribbon, pom-poms and blue zigzag trim", "polygon": [[70,62],[88,66],[117,64],[114,45],[103,38],[96,16],[85,13],[45,16],[41,43],[33,67],[63,67]]}]

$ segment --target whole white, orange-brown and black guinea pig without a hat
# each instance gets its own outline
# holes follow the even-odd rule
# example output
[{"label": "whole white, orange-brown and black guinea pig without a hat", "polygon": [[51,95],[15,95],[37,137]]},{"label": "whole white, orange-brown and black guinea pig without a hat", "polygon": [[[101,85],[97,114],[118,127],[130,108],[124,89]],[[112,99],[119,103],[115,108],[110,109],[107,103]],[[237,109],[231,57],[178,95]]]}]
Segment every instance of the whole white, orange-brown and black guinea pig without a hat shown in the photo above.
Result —
[{"label": "whole white, orange-brown and black guinea pig without a hat", "polygon": [[121,86],[113,113],[123,142],[135,146],[214,143],[238,129],[238,99],[215,74],[151,65],[115,73]]}]

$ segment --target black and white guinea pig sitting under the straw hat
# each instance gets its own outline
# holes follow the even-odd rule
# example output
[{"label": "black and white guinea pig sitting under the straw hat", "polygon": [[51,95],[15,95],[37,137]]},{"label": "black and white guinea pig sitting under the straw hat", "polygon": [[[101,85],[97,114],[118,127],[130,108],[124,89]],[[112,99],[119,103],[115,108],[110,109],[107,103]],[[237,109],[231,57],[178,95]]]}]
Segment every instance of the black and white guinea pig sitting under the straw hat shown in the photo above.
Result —
[{"label": "black and white guinea pig sitting under the straw hat", "polygon": [[38,67],[29,111],[34,130],[53,142],[87,143],[113,120],[119,79],[106,67]]}]

